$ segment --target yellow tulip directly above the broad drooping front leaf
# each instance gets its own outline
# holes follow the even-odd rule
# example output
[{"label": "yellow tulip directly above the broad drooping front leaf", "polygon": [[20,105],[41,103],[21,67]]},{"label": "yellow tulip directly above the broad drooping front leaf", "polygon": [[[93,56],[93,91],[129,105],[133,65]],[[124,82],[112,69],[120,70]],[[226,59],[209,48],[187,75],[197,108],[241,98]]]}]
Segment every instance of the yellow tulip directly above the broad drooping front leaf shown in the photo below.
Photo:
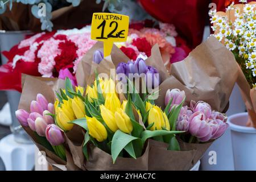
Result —
[{"label": "yellow tulip directly above the broad drooping front leaf", "polygon": [[123,111],[121,108],[117,108],[114,115],[118,128],[124,133],[130,134],[131,131],[133,131],[133,124],[125,111]]}]

